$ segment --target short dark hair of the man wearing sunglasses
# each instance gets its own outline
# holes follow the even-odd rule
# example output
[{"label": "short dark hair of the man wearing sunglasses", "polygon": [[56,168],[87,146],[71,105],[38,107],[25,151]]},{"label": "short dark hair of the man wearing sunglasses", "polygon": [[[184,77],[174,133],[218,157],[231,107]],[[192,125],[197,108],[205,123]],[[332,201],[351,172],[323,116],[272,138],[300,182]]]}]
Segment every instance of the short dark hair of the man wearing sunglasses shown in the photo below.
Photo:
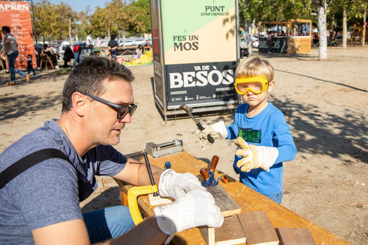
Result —
[{"label": "short dark hair of the man wearing sunglasses", "polygon": [[63,89],[63,109],[70,111],[71,96],[74,92],[93,94],[98,96],[105,93],[103,81],[124,80],[132,82],[132,72],[120,63],[106,57],[85,57],[75,66],[68,76]]}]

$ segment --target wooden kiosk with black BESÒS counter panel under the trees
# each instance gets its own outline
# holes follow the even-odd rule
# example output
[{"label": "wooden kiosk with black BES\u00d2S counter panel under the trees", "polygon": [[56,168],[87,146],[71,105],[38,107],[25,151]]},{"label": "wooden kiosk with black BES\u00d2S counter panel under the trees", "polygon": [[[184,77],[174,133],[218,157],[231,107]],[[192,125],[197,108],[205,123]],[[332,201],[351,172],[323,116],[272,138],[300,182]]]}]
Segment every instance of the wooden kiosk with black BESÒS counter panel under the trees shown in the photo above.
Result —
[{"label": "wooden kiosk with black BES\u00d2S counter panel under the trees", "polygon": [[[272,51],[287,54],[308,54],[311,52],[312,21],[310,19],[290,19],[288,21],[263,21],[259,22],[258,29],[266,31],[265,25],[286,26],[286,36],[272,37]],[[300,31],[299,24],[308,24],[309,32]],[[277,28],[278,29],[278,28]],[[281,28],[283,29],[283,28]],[[259,51],[268,51],[266,37],[259,38]]]}]

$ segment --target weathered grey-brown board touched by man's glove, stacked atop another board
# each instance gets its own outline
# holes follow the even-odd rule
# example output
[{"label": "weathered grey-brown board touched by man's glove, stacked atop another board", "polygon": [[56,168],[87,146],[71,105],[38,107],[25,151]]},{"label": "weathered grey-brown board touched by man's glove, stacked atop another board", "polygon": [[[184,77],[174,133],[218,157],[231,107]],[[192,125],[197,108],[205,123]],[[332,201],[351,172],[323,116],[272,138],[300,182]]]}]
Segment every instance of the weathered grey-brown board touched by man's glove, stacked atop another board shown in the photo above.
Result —
[{"label": "weathered grey-brown board touched by man's glove, stacked atop another board", "polygon": [[215,204],[219,206],[222,216],[229,217],[241,213],[239,205],[236,204],[234,199],[230,197],[221,185],[209,186],[206,190],[215,198]]}]

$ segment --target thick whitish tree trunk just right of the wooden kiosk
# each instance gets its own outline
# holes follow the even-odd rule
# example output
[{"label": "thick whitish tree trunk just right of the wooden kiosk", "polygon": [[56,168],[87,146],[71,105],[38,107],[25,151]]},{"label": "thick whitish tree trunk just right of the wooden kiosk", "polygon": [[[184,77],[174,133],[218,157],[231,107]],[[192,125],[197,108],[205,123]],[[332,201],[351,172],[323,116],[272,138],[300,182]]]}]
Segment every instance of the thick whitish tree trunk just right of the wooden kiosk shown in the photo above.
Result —
[{"label": "thick whitish tree trunk just right of the wooden kiosk", "polygon": [[327,3],[320,0],[318,5],[319,55],[318,60],[327,60]]}]

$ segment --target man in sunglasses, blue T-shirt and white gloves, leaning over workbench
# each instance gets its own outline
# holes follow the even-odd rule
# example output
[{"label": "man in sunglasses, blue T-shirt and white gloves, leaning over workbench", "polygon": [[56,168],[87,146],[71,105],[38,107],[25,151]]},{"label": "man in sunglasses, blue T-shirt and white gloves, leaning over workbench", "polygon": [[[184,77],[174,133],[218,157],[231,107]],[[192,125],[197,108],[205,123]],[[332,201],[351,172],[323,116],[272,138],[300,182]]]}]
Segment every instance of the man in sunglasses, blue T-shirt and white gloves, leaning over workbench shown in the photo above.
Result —
[{"label": "man in sunglasses, blue T-shirt and white gloves, leaning over workbench", "polygon": [[132,80],[113,60],[84,58],[64,85],[60,119],[0,155],[0,244],[167,244],[187,228],[222,225],[197,177],[155,166],[159,194],[176,199],[156,207],[156,217],[134,226],[126,206],[81,213],[79,202],[98,187],[95,175],[150,184],[145,165],[112,147],[137,108]]}]

